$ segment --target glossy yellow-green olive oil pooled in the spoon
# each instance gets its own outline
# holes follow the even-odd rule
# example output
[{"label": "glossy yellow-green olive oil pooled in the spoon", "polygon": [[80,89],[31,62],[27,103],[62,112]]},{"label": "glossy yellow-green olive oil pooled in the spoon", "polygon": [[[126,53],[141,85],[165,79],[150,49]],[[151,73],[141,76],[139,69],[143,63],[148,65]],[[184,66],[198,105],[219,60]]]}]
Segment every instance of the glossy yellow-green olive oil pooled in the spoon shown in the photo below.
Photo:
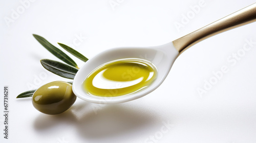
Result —
[{"label": "glossy yellow-green olive oil pooled in the spoon", "polygon": [[119,97],[142,90],[157,76],[153,63],[138,58],[120,59],[105,63],[83,81],[88,94],[98,97]]}]

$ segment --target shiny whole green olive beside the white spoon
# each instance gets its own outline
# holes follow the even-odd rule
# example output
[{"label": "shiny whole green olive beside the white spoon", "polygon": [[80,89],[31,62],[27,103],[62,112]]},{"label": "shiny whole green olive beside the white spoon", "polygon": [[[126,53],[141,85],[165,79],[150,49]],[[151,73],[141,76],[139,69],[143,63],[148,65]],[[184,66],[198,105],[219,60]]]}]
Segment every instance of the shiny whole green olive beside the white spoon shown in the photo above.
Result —
[{"label": "shiny whole green olive beside the white spoon", "polygon": [[54,81],[39,87],[33,94],[33,106],[45,114],[59,114],[68,110],[76,101],[72,84]]}]

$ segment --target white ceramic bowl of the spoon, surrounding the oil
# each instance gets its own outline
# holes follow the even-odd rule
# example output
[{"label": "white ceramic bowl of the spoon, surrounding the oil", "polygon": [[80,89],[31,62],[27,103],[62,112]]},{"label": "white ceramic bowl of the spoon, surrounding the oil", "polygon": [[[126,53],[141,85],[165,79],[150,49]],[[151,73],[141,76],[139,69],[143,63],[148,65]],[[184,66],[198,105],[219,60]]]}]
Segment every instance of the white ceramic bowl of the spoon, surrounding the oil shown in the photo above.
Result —
[{"label": "white ceramic bowl of the spoon, surrounding the oil", "polygon": [[[175,49],[172,42],[152,47],[118,47],[107,50],[88,60],[78,70],[73,82],[73,91],[80,99],[99,104],[115,104],[141,98],[160,86],[178,55],[179,52]],[[139,58],[150,61],[158,70],[157,78],[143,90],[126,96],[97,97],[91,96],[84,91],[82,83],[91,71],[104,63],[123,58]]]}]

